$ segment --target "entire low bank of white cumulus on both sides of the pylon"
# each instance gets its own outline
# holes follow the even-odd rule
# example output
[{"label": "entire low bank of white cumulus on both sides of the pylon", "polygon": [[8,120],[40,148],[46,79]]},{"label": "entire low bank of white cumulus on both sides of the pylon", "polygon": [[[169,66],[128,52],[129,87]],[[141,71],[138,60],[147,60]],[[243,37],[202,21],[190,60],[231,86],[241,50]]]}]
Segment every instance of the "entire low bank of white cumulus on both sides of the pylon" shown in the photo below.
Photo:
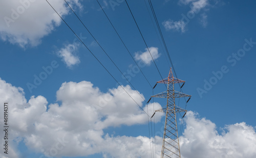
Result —
[{"label": "entire low bank of white cumulus on both sides of the pylon", "polygon": [[[130,86],[124,87],[139,105],[142,98]],[[32,96],[29,101],[23,89],[0,79],[0,102],[8,102],[9,138],[39,153],[50,156],[87,156],[101,153],[103,157],[151,156],[150,138],[110,136],[103,129],[111,126],[144,124],[147,117],[121,87],[102,93],[91,82],[65,82],[57,91],[61,104],[50,104],[45,97]],[[142,95],[142,94],[141,94]],[[152,104],[148,110],[153,114]],[[155,109],[160,108],[155,104]],[[145,109],[145,107],[144,107]],[[3,114],[3,108],[0,108]],[[150,115],[151,115],[150,114]],[[158,116],[160,115],[160,116]],[[156,113],[156,122],[163,113]],[[3,118],[0,118],[3,122]],[[221,134],[210,120],[188,111],[185,130],[180,138],[184,158],[254,158],[256,157],[255,129],[246,123],[227,125]],[[161,130],[161,129],[160,129]],[[156,129],[156,133],[159,133]],[[161,132],[160,132],[161,133]],[[160,136],[161,134],[157,134]],[[162,136],[156,136],[157,157],[160,157]],[[3,132],[0,133],[3,138]],[[12,143],[11,157],[20,157]],[[4,157],[0,153],[1,157]]]}]

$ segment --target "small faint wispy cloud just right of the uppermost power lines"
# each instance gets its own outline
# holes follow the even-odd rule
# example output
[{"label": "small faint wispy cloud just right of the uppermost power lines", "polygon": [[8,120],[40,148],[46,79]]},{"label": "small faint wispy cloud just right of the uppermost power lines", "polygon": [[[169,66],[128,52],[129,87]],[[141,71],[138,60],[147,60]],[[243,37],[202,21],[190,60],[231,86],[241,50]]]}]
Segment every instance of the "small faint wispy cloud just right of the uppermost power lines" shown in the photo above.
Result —
[{"label": "small faint wispy cloud just right of the uppermost power lines", "polygon": [[173,21],[171,19],[168,19],[166,21],[162,22],[164,28],[169,31],[169,30],[175,30],[178,32],[185,32],[185,22],[183,20],[179,20],[179,21]]}]

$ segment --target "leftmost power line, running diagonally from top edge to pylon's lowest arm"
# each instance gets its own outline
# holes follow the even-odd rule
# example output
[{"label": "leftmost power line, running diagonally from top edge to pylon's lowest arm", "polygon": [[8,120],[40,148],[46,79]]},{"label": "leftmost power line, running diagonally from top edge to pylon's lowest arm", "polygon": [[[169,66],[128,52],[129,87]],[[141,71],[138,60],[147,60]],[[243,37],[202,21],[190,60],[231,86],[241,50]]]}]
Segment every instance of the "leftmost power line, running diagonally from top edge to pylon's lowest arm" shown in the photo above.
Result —
[{"label": "leftmost power line, running diagonally from top edge to pylon's lowest arm", "polygon": [[[58,16],[62,19],[63,22],[69,27],[69,29],[74,33],[74,35],[80,40],[80,42],[87,48],[87,50],[93,55],[93,57],[103,66],[106,72],[110,74],[110,76],[122,87],[122,89],[126,92],[127,95],[129,95],[132,99],[133,97],[124,89],[124,87],[116,80],[116,78],[106,69],[106,67],[99,61],[99,59],[92,53],[92,51],[84,44],[84,42],[79,38],[79,36],[74,32],[74,30],[67,24],[67,22],[59,15],[59,13],[53,8],[53,6],[46,0],[46,2],[52,7],[52,9],[58,14]],[[144,111],[144,109],[133,99],[133,101]],[[146,111],[144,111],[145,114],[150,117]]]}]

